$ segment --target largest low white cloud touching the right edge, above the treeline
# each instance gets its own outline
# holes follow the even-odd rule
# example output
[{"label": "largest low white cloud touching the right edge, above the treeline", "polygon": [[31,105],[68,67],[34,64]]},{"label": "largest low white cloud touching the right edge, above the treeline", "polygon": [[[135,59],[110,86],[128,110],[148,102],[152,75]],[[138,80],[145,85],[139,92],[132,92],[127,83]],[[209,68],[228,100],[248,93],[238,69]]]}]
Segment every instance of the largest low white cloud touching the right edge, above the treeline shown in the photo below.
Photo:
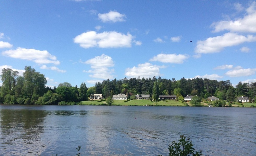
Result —
[{"label": "largest low white cloud touching the right edge, above the treeline", "polygon": [[225,74],[230,77],[240,77],[240,76],[250,76],[255,74],[256,68],[247,68],[247,69],[235,69],[235,70],[229,70]]}]

